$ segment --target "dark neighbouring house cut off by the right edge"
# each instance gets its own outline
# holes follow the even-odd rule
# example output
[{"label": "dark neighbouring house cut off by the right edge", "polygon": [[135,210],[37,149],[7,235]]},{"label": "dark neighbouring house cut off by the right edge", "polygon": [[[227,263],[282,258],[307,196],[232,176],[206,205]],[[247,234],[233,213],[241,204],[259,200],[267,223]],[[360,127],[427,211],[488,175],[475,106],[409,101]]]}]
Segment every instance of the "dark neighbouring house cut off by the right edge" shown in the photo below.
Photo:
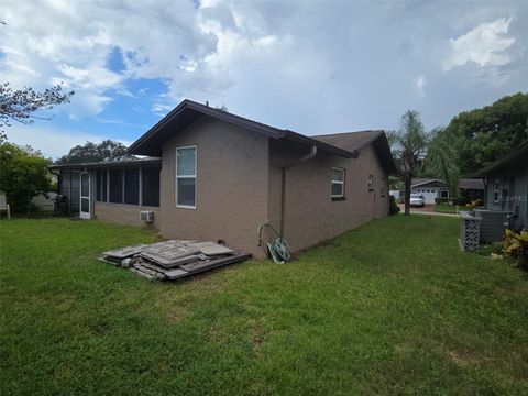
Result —
[{"label": "dark neighbouring house cut off by the right edge", "polygon": [[484,179],[486,209],[509,211],[514,230],[528,229],[528,140],[475,177]]}]

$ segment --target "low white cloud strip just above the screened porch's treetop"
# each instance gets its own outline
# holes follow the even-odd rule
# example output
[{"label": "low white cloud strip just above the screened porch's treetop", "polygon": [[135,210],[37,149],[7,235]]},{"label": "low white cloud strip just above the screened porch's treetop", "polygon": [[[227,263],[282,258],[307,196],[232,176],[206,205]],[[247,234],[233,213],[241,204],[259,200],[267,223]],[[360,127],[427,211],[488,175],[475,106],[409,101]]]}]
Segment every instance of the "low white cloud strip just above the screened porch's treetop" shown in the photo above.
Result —
[{"label": "low white cloud strip just above the screened porch's treetop", "polygon": [[117,140],[127,146],[132,142],[121,139],[114,139],[100,134],[87,134],[79,131],[61,131],[31,125],[16,125],[13,130],[8,131],[8,138],[10,142],[25,145],[29,144],[34,148],[38,148],[46,157],[56,160],[57,157],[65,155],[69,150],[77,144],[84,144],[86,141],[101,142],[107,139]]}]

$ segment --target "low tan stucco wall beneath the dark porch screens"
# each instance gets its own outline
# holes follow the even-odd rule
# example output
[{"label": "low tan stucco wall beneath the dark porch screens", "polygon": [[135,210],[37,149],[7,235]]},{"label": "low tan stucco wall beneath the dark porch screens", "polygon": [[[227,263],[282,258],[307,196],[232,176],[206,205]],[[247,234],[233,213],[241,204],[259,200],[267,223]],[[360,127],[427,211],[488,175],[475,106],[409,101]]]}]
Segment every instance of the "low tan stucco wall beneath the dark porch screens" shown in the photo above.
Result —
[{"label": "low tan stucco wall beneath the dark porch screens", "polygon": [[[151,210],[154,212],[154,221],[152,223],[145,223],[141,220],[140,212],[142,210]],[[158,208],[141,208],[130,205],[95,202],[95,218],[102,221],[160,230],[161,217]]]}]

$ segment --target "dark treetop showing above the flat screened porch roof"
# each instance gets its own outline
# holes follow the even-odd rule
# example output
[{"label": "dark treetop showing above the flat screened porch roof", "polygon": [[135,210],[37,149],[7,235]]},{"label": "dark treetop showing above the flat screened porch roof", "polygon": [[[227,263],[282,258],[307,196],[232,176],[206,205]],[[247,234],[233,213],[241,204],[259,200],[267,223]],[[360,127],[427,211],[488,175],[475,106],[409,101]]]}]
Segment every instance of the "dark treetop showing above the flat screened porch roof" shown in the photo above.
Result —
[{"label": "dark treetop showing above the flat screened porch roof", "polygon": [[76,145],[67,155],[57,160],[58,164],[80,164],[87,162],[120,161],[135,158],[123,143],[106,140],[101,143],[86,142]]}]

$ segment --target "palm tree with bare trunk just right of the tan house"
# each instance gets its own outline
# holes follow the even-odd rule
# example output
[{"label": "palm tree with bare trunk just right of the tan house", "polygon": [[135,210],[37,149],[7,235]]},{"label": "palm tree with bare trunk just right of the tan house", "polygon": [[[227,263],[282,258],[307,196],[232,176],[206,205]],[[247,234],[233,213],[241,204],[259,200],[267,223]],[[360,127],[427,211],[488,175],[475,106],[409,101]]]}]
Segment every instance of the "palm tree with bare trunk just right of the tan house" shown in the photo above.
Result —
[{"label": "palm tree with bare trunk just right of the tan house", "polygon": [[428,135],[415,110],[407,110],[397,131],[388,133],[393,156],[405,185],[405,215],[410,215],[410,186],[426,154]]}]

